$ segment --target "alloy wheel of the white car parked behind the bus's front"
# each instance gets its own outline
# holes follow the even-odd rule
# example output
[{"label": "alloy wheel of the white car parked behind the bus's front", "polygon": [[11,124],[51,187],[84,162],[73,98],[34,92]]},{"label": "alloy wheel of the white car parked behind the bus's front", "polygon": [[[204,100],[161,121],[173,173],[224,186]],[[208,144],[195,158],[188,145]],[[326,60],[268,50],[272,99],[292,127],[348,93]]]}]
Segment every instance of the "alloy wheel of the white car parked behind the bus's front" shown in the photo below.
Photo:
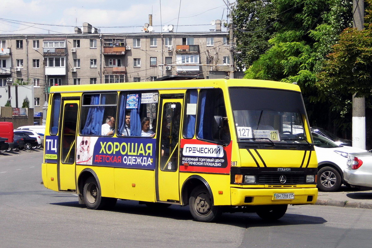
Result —
[{"label": "alloy wheel of the white car parked behind the bus's front", "polygon": [[332,167],[326,166],[318,170],[317,186],[320,191],[334,192],[341,187],[340,173]]}]

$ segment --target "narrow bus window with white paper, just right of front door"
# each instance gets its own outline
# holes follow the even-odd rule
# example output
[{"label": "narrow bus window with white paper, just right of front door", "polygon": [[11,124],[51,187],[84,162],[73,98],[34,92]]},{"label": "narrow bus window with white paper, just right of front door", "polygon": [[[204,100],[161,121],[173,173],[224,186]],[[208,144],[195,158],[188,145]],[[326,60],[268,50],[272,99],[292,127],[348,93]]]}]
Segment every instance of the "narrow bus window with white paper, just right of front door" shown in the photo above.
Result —
[{"label": "narrow bus window with white paper, just right of front door", "polygon": [[191,139],[195,135],[196,104],[198,103],[198,90],[186,91],[185,123],[183,123],[183,137]]}]

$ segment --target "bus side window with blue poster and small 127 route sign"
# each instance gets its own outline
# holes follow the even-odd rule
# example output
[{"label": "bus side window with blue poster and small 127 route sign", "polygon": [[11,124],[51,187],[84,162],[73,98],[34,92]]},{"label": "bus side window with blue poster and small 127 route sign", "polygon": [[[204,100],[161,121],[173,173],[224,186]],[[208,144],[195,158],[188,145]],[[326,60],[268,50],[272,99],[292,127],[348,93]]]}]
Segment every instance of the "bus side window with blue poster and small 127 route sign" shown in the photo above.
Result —
[{"label": "bus side window with blue poster and small 127 route sign", "polygon": [[119,97],[118,136],[141,136],[141,120],[149,120],[150,133],[156,132],[157,92],[122,92]]}]

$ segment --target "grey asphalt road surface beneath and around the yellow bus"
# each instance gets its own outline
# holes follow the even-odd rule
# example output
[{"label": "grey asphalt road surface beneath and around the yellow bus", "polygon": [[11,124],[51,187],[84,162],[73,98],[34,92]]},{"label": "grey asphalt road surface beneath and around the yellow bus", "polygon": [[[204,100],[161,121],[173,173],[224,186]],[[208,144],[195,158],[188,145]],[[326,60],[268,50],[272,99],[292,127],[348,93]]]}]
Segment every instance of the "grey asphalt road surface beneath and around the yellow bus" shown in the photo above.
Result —
[{"label": "grey asphalt road surface beneath and around the yellow bus", "polygon": [[0,154],[0,247],[371,247],[371,209],[289,206],[276,222],[224,213],[217,223],[135,201],[89,210],[40,184],[41,160],[42,150]]}]

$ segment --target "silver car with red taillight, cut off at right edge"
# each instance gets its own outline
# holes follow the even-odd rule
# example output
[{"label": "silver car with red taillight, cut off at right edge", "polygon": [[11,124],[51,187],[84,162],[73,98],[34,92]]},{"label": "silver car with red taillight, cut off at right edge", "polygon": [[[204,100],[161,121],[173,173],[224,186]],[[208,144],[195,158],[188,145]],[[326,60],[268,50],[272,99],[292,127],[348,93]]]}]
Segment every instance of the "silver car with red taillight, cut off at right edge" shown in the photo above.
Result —
[{"label": "silver car with red taillight, cut off at right edge", "polygon": [[371,152],[349,154],[344,169],[344,180],[352,187],[372,187]]}]

